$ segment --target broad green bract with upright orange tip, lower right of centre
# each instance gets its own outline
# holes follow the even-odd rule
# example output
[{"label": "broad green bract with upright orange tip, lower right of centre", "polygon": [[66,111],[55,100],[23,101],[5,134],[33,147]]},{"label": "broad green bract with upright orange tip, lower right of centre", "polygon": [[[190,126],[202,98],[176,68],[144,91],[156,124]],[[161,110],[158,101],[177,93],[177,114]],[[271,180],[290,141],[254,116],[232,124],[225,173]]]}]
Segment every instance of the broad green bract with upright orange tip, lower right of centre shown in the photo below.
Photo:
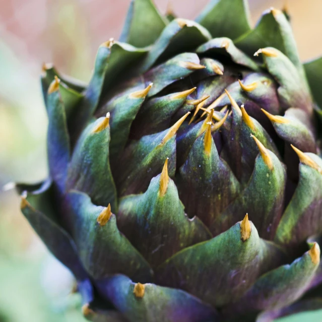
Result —
[{"label": "broad green bract with upright orange tip, lower right of centre", "polygon": [[[284,254],[260,239],[248,217],[227,231],[172,256],[156,271],[159,284],[181,288],[214,306],[238,299]],[[202,274],[200,274],[202,272]]]}]

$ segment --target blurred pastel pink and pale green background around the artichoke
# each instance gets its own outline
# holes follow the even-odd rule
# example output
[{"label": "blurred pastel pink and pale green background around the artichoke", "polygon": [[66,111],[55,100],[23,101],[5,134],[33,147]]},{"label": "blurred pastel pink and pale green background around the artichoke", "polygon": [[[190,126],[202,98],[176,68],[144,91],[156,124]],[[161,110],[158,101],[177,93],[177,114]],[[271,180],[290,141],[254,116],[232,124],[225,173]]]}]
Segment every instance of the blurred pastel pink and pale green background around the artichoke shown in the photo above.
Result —
[{"label": "blurred pastel pink and pale green background around the artichoke", "polygon": [[[176,15],[193,19],[207,2],[171,0],[170,5]],[[155,3],[162,13],[169,8],[168,0]],[[118,38],[129,4],[130,0],[0,2],[0,187],[41,180],[47,174],[42,63],[53,62],[59,72],[87,82],[98,46]],[[322,54],[321,0],[250,0],[249,6],[253,24],[265,9],[286,6],[301,58]],[[0,322],[85,321],[80,298],[72,292],[71,274],[29,227],[10,184],[5,187],[0,191]],[[307,320],[321,321],[322,316]]]}]

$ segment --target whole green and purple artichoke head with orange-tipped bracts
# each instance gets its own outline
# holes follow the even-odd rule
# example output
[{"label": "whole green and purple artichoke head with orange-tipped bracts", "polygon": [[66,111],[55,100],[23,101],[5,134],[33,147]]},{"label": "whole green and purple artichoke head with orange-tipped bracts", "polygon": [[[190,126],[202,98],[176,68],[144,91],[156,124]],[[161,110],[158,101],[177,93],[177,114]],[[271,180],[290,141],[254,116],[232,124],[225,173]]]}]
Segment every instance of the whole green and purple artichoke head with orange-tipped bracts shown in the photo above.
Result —
[{"label": "whole green and purple artichoke head with orange-tipped bracts", "polygon": [[49,177],[17,189],[89,320],[322,308],[322,59],[302,65],[288,18],[134,0],[88,85],[43,66]]}]

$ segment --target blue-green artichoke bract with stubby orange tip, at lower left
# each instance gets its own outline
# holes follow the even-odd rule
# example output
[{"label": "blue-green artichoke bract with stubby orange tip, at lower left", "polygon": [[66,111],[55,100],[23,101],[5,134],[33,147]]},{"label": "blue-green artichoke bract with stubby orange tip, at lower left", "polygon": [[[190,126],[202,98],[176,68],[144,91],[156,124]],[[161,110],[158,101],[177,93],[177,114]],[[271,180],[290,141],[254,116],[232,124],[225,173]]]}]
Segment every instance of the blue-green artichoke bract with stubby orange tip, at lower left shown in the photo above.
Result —
[{"label": "blue-green artichoke bract with stubby orange tip, at lower left", "polygon": [[136,281],[151,280],[149,264],[118,231],[116,217],[108,207],[93,205],[86,194],[76,190],[69,192],[67,205],[80,259],[94,279],[122,273]]}]

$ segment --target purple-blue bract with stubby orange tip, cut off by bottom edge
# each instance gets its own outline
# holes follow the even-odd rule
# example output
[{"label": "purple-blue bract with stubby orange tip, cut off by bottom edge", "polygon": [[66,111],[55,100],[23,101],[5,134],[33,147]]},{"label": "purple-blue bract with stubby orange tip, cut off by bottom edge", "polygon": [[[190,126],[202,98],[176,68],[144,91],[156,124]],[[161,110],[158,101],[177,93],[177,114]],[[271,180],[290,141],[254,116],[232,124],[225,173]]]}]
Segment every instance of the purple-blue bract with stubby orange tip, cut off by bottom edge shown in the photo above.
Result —
[{"label": "purple-blue bract with stubby orange tip, cut off by bottom edge", "polygon": [[135,285],[123,275],[114,275],[96,283],[100,295],[130,322],[153,321],[156,317],[168,322],[219,321],[213,307],[184,291],[145,284],[144,295],[138,298],[134,294]]}]

